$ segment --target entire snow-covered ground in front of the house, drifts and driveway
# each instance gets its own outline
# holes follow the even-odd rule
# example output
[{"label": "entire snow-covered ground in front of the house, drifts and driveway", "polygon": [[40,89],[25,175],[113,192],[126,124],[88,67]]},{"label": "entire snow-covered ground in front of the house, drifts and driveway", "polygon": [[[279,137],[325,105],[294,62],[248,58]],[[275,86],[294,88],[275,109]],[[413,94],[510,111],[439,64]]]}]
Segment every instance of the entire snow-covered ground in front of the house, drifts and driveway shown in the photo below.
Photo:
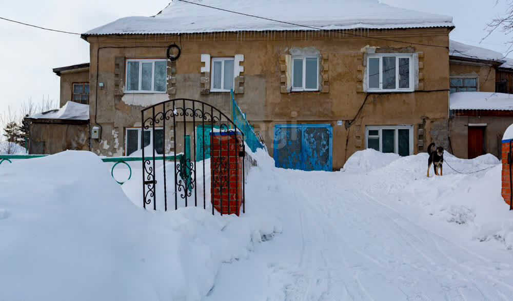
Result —
[{"label": "entire snow-covered ground in front of the house, drifts and driveway", "polygon": [[513,214],[495,157],[446,154],[460,171],[490,168],[464,175],[446,166],[429,178],[425,153],[366,150],[339,172],[277,169],[257,157],[241,217],[142,210],[129,201],[137,166],[122,189],[87,152],[0,166],[0,300],[513,295]]}]

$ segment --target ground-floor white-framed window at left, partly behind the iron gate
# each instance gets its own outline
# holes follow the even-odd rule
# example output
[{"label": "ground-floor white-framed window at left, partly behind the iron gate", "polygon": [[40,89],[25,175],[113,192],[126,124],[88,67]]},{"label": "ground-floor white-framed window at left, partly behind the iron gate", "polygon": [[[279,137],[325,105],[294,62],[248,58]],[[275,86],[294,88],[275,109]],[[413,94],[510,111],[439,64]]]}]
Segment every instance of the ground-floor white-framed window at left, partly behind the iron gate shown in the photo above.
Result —
[{"label": "ground-floor white-framed window at left, partly behind the iron gate", "polygon": [[[164,129],[155,128],[144,130],[144,141],[143,135],[141,134],[142,128],[126,128],[125,129],[125,155],[129,156],[132,153],[141,150],[141,146],[147,147],[153,141],[153,135],[155,135],[155,154],[162,155],[162,147],[164,146]],[[145,154],[147,155],[147,154]],[[153,153],[151,153],[153,155]]]}]

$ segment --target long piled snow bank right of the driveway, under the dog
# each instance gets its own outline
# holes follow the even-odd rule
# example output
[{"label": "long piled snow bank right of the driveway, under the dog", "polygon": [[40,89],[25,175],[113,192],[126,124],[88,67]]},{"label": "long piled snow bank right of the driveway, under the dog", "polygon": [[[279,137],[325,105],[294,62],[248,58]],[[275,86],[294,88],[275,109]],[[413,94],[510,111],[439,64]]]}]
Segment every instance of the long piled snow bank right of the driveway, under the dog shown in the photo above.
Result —
[{"label": "long piled snow bank right of the driveway, under the dog", "polygon": [[[346,165],[363,161],[361,166],[365,170],[367,162],[381,162],[382,168],[370,168],[368,174],[361,175],[360,181],[368,183],[367,193],[379,195],[389,206],[417,207],[418,214],[455,225],[454,235],[499,242],[508,249],[513,248],[513,214],[501,196],[502,167],[494,155],[460,159],[445,152],[443,176],[435,176],[431,167],[429,178],[426,177],[427,153],[393,158],[366,150],[353,156]],[[362,157],[366,159],[360,159]],[[486,170],[479,171],[482,169]],[[475,171],[479,172],[471,173]],[[411,209],[408,211],[410,217],[416,215]]]}]

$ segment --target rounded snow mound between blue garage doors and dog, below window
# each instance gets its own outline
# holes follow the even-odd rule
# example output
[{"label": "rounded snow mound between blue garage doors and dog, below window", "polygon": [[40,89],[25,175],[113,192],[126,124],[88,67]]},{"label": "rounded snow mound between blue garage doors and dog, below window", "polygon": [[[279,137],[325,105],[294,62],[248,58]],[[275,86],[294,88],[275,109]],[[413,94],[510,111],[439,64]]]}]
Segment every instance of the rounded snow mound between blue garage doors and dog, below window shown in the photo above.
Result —
[{"label": "rounded snow mound between blue garage doors and dog, below window", "polygon": [[350,156],[346,164],[344,164],[343,170],[362,173],[370,172],[375,169],[383,168],[398,158],[398,154],[385,154],[369,148],[363,151],[357,151]]}]

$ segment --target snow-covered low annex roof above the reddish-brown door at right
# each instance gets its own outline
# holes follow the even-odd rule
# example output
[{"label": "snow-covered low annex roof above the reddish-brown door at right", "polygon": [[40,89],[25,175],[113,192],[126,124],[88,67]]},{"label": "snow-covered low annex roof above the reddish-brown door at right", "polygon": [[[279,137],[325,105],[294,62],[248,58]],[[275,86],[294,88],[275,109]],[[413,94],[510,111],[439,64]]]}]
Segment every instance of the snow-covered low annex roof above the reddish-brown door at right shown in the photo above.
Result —
[{"label": "snow-covered low annex roof above the reddish-brown door at right", "polygon": [[457,92],[450,94],[451,110],[513,110],[513,94]]}]

